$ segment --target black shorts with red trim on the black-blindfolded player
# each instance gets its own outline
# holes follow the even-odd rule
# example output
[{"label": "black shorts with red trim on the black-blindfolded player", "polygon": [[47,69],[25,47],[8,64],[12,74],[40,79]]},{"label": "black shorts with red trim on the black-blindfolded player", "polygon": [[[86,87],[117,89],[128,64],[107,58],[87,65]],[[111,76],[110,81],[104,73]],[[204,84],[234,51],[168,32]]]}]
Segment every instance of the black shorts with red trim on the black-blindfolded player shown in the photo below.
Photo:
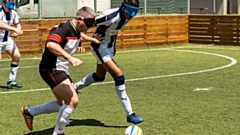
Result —
[{"label": "black shorts with red trim on the black-blindfolded player", "polygon": [[49,69],[39,69],[39,73],[42,79],[50,86],[51,89],[59,85],[61,82],[66,80],[67,78],[71,81],[69,75],[66,74],[65,71],[61,70],[49,70]]}]

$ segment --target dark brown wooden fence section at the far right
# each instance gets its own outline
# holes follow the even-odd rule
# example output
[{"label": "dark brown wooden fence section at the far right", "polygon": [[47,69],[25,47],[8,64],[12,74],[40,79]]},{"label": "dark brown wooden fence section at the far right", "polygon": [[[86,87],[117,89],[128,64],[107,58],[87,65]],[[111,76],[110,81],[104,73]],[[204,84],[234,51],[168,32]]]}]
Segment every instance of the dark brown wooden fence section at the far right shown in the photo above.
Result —
[{"label": "dark brown wooden fence section at the far right", "polygon": [[189,43],[240,45],[240,16],[189,15]]}]

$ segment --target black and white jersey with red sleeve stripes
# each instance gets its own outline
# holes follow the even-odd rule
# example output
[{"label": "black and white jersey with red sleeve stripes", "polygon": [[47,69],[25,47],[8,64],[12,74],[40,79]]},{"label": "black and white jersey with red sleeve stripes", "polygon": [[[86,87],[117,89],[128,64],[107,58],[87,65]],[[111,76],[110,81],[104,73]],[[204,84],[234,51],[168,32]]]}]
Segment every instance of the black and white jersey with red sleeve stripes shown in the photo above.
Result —
[{"label": "black and white jersey with red sleeve stripes", "polygon": [[62,22],[51,29],[42,54],[40,69],[63,70],[67,74],[69,62],[53,54],[46,47],[48,42],[54,42],[60,45],[66,52],[72,55],[79,46],[81,33],[78,32],[71,21]]}]

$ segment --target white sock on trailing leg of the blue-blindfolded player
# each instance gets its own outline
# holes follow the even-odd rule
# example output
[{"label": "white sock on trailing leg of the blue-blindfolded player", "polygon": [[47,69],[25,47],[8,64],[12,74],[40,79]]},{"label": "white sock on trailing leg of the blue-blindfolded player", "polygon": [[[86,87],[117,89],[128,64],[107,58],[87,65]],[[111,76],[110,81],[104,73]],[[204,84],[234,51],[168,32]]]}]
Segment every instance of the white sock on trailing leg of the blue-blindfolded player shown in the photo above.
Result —
[{"label": "white sock on trailing leg of the blue-blindfolded player", "polygon": [[91,74],[88,74],[87,76],[85,76],[81,81],[79,82],[76,82],[74,84],[74,88],[75,90],[80,90],[84,87],[87,87],[89,85],[91,85],[92,83],[96,82],[94,79],[93,79],[93,73]]}]

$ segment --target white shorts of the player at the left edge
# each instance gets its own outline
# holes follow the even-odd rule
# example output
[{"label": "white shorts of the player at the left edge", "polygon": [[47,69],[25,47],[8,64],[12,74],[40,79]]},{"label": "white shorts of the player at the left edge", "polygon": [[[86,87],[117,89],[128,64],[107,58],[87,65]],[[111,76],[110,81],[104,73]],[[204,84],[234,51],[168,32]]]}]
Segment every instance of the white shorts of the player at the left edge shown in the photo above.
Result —
[{"label": "white shorts of the player at the left edge", "polygon": [[16,48],[16,44],[11,37],[8,37],[8,41],[2,42],[3,39],[0,38],[0,52],[8,51]]}]

